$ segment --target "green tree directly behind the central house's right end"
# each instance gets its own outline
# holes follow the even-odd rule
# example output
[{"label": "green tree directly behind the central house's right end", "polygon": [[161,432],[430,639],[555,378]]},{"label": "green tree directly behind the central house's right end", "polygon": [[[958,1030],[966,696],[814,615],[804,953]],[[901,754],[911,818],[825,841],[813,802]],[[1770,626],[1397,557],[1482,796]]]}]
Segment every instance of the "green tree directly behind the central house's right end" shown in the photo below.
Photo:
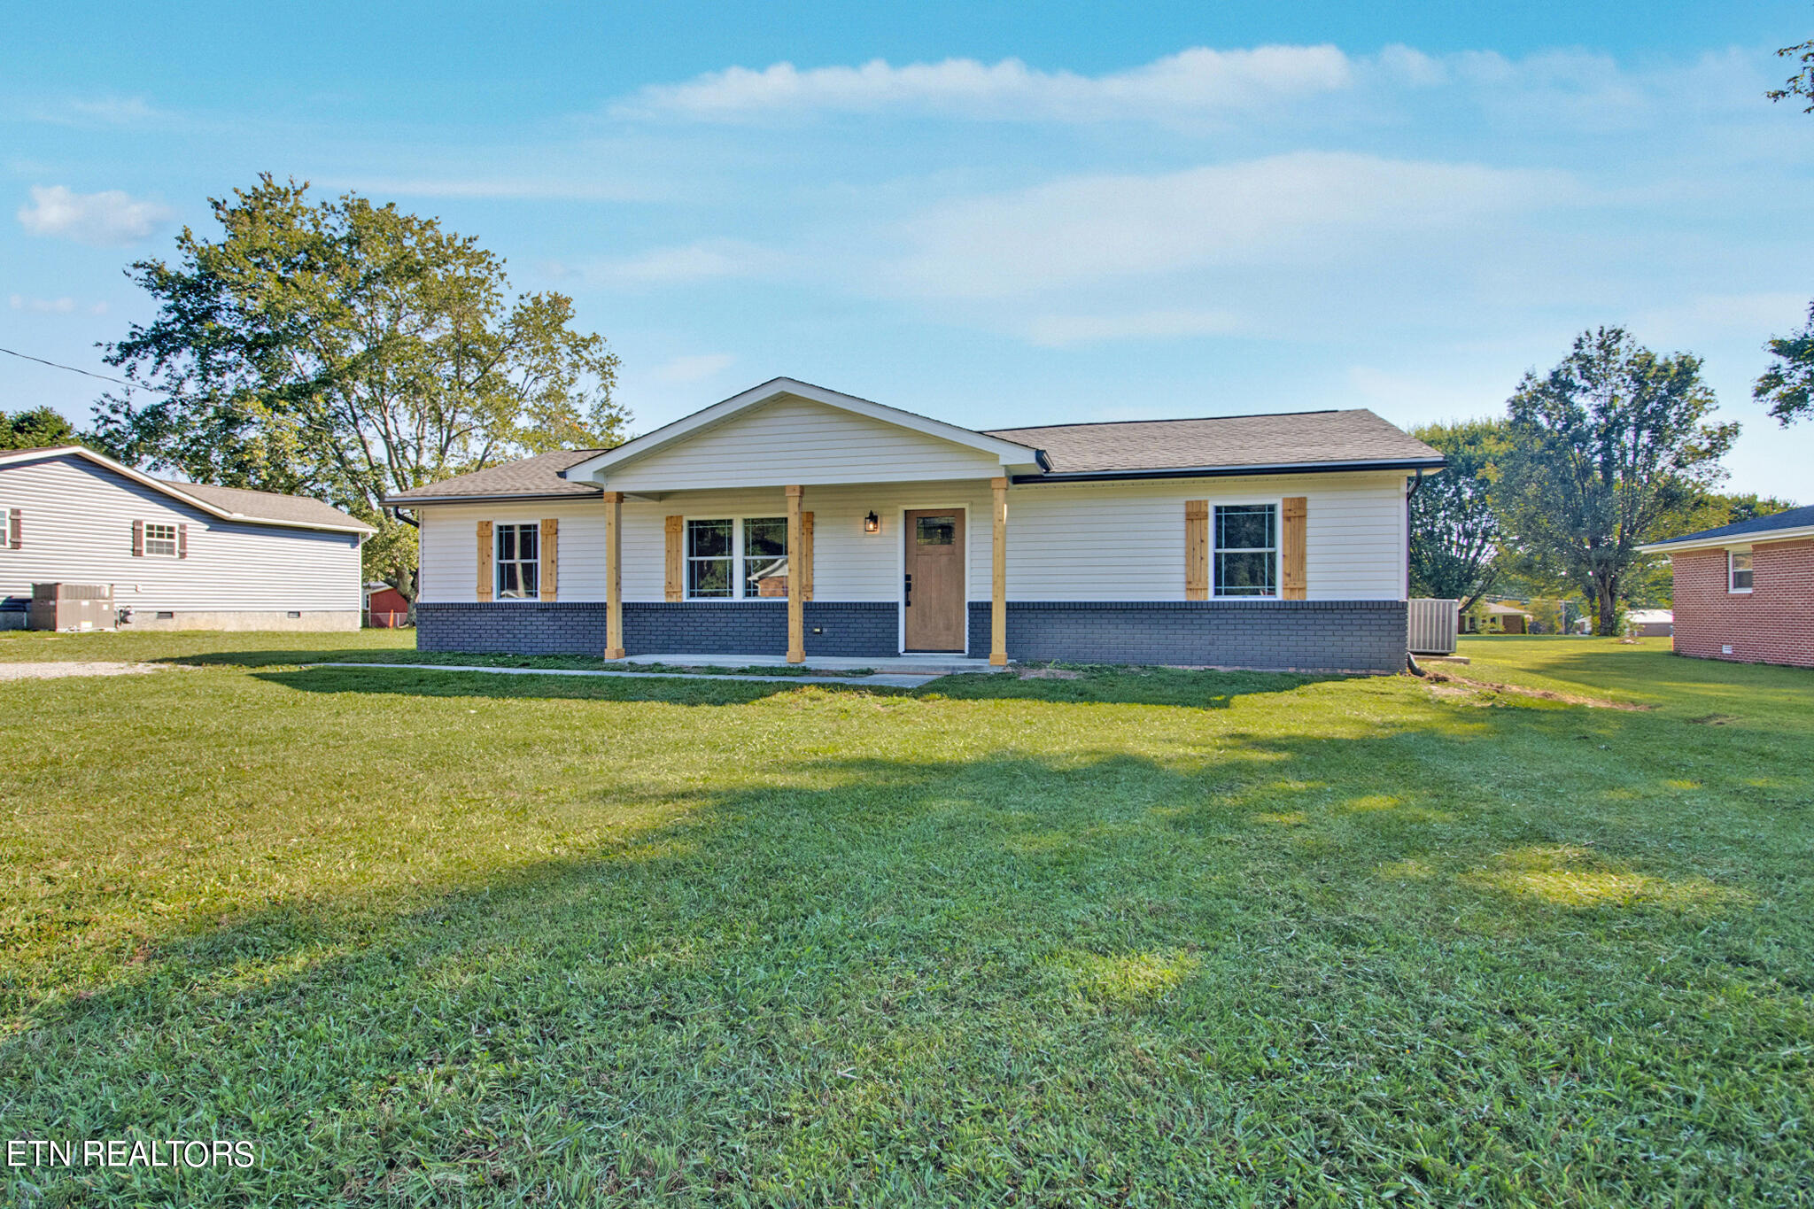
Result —
[{"label": "green tree directly behind the central house's right end", "polygon": [[1411,595],[1460,600],[1466,611],[1500,575],[1493,484],[1509,450],[1506,422],[1428,424],[1413,435],[1448,466],[1411,495]]}]

